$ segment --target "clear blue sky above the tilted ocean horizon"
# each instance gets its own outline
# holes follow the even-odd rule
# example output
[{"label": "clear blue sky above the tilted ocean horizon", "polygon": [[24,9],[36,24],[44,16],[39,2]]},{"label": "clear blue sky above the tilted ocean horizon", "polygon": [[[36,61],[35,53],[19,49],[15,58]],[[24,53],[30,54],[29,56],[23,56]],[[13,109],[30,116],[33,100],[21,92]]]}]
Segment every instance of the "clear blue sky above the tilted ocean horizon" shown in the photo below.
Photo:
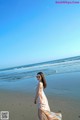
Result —
[{"label": "clear blue sky above the tilted ocean horizon", "polygon": [[0,0],[0,68],[80,55],[80,5]]}]

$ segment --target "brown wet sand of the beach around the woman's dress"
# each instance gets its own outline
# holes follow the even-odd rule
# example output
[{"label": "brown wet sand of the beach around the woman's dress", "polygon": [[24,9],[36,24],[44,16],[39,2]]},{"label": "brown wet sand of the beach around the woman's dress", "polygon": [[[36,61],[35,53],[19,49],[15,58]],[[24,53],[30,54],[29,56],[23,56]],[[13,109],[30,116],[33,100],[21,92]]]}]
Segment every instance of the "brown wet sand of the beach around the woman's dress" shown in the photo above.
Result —
[{"label": "brown wet sand of the beach around the woman's dress", "polygon": [[[47,95],[51,111],[61,111],[63,120],[80,120],[80,101]],[[10,120],[38,120],[32,93],[0,90],[0,111],[9,111]]]}]

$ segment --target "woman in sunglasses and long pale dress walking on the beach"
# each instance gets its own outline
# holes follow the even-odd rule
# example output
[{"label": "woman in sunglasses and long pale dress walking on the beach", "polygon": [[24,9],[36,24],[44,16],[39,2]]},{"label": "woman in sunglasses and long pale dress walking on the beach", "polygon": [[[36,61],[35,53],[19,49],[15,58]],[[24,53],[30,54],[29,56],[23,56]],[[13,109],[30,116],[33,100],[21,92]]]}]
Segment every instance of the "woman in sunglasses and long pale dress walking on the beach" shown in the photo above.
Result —
[{"label": "woman in sunglasses and long pale dress walking on the beach", "polygon": [[38,105],[38,117],[39,120],[62,120],[61,113],[55,113],[50,111],[47,97],[43,91],[46,88],[46,80],[42,72],[37,73],[38,85],[36,88],[36,95],[34,103]]}]

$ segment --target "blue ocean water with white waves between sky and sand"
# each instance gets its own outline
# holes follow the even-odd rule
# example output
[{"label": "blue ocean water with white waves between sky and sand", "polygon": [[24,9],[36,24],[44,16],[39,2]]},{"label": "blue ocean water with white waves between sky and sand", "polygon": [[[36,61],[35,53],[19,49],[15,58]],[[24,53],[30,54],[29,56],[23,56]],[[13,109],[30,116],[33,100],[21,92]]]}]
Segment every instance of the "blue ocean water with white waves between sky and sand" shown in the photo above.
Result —
[{"label": "blue ocean water with white waves between sky and sand", "polygon": [[80,97],[79,56],[0,69],[0,89],[33,91],[39,71],[45,74],[49,94]]}]

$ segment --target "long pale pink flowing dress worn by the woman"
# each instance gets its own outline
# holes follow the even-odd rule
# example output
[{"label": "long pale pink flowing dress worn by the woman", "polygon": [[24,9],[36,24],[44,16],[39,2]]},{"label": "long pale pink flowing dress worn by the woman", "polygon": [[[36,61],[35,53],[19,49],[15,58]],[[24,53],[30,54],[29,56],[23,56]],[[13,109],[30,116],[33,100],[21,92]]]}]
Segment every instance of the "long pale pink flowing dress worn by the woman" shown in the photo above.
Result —
[{"label": "long pale pink flowing dress worn by the woman", "polygon": [[37,106],[39,112],[39,116],[41,116],[40,120],[62,120],[61,113],[55,113],[50,110],[48,99],[44,93],[43,83],[41,81],[38,82],[36,90],[39,92],[38,99],[37,99]]}]

